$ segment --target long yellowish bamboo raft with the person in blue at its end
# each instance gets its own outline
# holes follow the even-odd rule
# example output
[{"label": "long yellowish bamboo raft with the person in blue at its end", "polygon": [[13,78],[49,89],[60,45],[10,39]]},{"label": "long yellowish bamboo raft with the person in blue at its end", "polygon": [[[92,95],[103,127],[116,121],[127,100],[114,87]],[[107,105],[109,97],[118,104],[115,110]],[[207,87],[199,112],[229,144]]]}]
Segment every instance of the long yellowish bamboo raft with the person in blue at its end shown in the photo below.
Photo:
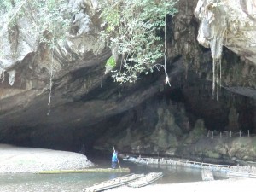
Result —
[{"label": "long yellowish bamboo raft with the person in blue at its end", "polygon": [[130,172],[129,168],[88,168],[88,169],[79,169],[79,170],[54,170],[54,171],[42,171],[35,172],[38,174],[60,174],[60,173],[85,173],[85,172]]}]

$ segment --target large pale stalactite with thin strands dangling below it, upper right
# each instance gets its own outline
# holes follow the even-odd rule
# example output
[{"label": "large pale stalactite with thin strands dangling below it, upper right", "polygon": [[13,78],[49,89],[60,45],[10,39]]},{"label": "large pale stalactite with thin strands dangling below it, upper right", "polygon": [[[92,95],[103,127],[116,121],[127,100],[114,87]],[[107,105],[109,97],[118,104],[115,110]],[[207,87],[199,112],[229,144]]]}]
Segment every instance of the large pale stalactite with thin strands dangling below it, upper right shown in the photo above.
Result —
[{"label": "large pale stalactite with thin strands dangling below it, upper right", "polygon": [[225,10],[218,0],[198,1],[195,16],[201,20],[198,41],[212,52],[212,98],[218,96],[221,88],[221,56],[224,36],[227,41]]}]

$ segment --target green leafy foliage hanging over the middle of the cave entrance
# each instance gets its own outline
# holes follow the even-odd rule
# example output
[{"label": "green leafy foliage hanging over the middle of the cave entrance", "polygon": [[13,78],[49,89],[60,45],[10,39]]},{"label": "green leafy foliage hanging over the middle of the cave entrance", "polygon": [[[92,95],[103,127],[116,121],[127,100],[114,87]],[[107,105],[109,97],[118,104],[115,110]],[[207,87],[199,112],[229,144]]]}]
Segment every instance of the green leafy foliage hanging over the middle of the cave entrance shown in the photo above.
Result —
[{"label": "green leafy foliage hanging over the middle of the cave entrance", "polygon": [[121,70],[113,71],[120,83],[134,82],[140,73],[153,72],[165,55],[161,38],[166,15],[177,13],[172,0],[101,0],[105,30],[113,55],[121,57]]}]

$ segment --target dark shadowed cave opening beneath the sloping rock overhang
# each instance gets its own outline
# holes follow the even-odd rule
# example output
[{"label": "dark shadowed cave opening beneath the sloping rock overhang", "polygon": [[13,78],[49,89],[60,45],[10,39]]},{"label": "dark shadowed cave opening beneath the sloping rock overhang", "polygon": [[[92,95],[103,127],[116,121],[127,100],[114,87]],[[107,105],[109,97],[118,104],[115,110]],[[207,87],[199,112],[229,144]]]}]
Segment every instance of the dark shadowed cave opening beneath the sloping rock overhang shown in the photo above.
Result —
[{"label": "dark shadowed cave opening beneath the sloping rock overhang", "polygon": [[[230,101],[230,98],[233,102],[226,102]],[[17,126],[6,131],[1,140],[2,143],[16,146],[52,148],[73,152],[79,152],[84,144],[86,152],[94,154],[97,153],[94,148],[95,142],[101,137],[110,137],[109,132],[126,131],[131,125],[143,132],[153,131],[158,120],[156,108],[159,108],[159,104],[161,106],[163,103],[168,105],[168,102],[184,106],[190,127],[195,126],[196,120],[203,119],[205,127],[209,131],[234,131],[235,134],[241,131],[242,135],[250,131],[250,134],[255,134],[255,106],[252,99],[246,96],[234,96],[223,91],[219,102],[217,102],[209,96],[209,91],[198,91],[191,87],[175,89],[167,87],[140,105],[123,113],[106,116],[106,119],[102,119],[96,124],[80,124],[66,128],[62,128],[61,125],[49,126],[47,124],[37,127]],[[237,118],[233,119],[236,120],[236,129],[232,126],[229,127],[231,105],[235,106],[238,114]],[[230,125],[232,123],[234,122],[231,121]],[[101,153],[107,154],[111,150],[112,148],[100,149]],[[129,151],[129,148],[126,150]]]}]

